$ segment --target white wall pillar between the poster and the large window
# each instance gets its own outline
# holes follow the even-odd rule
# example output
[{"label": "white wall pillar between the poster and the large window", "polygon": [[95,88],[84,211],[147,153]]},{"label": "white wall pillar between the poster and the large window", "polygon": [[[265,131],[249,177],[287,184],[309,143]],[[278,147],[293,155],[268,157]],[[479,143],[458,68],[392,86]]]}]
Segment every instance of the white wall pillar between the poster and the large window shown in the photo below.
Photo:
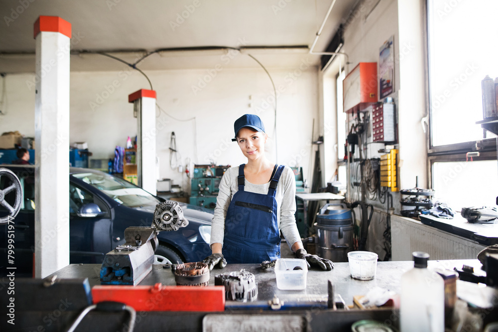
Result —
[{"label": "white wall pillar between the poster and the large window", "polygon": [[[427,159],[428,134],[421,123],[427,114],[427,54],[425,38],[425,0],[398,1],[399,28],[399,183],[411,188],[418,176],[421,188],[429,187]],[[396,59],[396,60],[397,60]],[[417,142],[414,144],[414,142]]]}]

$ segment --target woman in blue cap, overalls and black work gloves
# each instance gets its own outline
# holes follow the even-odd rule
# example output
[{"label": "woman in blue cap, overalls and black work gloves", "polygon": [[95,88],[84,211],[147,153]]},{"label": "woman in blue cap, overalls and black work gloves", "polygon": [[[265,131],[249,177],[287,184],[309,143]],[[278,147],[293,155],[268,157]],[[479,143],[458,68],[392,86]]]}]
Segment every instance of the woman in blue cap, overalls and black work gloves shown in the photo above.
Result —
[{"label": "woman in blue cap, overalls and black work gloves", "polygon": [[297,230],[296,184],[289,167],[274,165],[265,155],[268,135],[261,119],[245,114],[234,124],[235,138],[247,164],[229,168],[220,182],[211,223],[212,270],[228,263],[261,263],[280,258],[280,230],[296,258],[332,270],[334,264],[306,252]]}]

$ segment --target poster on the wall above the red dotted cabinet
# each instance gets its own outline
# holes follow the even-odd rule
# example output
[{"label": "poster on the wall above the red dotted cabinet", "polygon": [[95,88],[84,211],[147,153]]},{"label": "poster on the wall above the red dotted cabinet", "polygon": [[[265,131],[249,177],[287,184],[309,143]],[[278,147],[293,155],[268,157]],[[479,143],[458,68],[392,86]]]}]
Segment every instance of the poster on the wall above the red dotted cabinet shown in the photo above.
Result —
[{"label": "poster on the wall above the red dotted cabinet", "polygon": [[378,57],[379,99],[387,97],[394,90],[394,36],[390,36],[380,47]]}]

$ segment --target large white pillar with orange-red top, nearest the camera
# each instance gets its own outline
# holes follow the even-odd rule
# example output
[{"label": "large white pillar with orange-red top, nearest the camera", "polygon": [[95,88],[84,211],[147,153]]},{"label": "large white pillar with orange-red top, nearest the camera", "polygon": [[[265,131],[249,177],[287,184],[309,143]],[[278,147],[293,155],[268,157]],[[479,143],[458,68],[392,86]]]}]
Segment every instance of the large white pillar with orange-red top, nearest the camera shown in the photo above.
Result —
[{"label": "large white pillar with orange-red top, nearest the camera", "polygon": [[40,16],[36,39],[35,277],[69,265],[69,51],[71,23]]}]

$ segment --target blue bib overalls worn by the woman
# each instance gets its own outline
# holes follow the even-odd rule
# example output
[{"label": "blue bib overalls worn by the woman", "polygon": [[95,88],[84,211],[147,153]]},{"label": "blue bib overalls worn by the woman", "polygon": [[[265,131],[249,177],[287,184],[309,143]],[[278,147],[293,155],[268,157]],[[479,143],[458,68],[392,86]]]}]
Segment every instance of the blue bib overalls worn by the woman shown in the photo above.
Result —
[{"label": "blue bib overalls worn by the woman", "polygon": [[222,250],[230,264],[261,263],[280,258],[275,192],[284,166],[278,166],[266,195],[244,191],[244,166],[239,166],[239,191],[232,198],[225,219]]}]

